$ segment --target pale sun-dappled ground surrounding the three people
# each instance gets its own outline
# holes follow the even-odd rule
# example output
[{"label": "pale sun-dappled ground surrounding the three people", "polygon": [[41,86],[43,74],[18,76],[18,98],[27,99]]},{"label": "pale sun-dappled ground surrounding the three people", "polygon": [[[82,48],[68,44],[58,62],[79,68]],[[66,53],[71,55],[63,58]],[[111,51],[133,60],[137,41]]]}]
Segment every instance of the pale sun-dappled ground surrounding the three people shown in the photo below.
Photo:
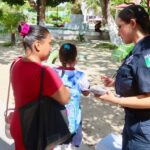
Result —
[{"label": "pale sun-dappled ground surrounding the three people", "polygon": [[[60,42],[54,45],[58,48]],[[84,70],[91,85],[100,84],[100,75],[112,75],[117,68],[111,60],[111,52],[97,48],[100,41],[77,43],[79,63],[77,67]],[[6,106],[9,67],[13,58],[23,53],[19,47],[3,48],[0,46],[0,150],[14,150],[13,140],[5,136],[4,110]],[[12,93],[11,93],[12,95]],[[11,96],[11,105],[13,98]],[[83,145],[80,150],[94,150],[95,144],[111,132],[120,133],[123,124],[123,112],[116,106],[103,104],[89,96],[82,99],[83,108]],[[115,121],[114,121],[115,120]]]}]

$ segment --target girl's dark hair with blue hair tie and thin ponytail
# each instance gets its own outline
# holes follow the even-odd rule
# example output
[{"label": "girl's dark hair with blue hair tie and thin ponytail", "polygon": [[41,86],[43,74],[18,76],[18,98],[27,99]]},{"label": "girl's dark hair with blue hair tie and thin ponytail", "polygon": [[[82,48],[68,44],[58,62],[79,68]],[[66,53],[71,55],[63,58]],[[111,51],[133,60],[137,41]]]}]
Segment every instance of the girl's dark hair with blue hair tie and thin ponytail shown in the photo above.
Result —
[{"label": "girl's dark hair with blue hair tie and thin ponytail", "polygon": [[64,43],[59,50],[59,59],[62,63],[62,76],[64,75],[67,63],[73,63],[77,57],[77,48],[74,44]]}]

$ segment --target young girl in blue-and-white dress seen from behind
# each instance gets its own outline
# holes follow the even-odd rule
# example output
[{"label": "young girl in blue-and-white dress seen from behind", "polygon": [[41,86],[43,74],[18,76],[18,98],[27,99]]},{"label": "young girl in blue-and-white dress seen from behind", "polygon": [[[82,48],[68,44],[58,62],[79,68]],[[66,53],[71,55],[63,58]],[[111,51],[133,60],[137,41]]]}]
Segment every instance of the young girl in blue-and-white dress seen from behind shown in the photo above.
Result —
[{"label": "young girl in blue-and-white dress seen from behind", "polygon": [[73,134],[70,144],[57,146],[54,150],[61,149],[75,149],[79,147],[82,141],[81,129],[81,107],[80,98],[81,93],[88,96],[89,82],[86,75],[77,69],[77,49],[71,43],[65,43],[60,47],[59,59],[62,66],[54,68],[59,76],[62,78],[64,85],[70,88],[71,98],[70,102],[66,104],[69,130]]}]

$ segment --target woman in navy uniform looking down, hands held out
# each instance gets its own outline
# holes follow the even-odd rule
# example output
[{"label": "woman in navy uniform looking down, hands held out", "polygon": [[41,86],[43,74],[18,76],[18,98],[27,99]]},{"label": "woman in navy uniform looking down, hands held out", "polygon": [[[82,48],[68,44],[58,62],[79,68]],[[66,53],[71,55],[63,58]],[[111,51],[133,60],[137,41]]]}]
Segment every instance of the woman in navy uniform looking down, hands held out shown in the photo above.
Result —
[{"label": "woman in navy uniform looking down, hands held out", "polygon": [[120,105],[125,110],[122,150],[150,150],[150,20],[143,7],[130,5],[117,18],[119,35],[124,43],[135,47],[124,59],[115,81],[101,79],[105,86],[114,86],[100,96],[103,101]]}]

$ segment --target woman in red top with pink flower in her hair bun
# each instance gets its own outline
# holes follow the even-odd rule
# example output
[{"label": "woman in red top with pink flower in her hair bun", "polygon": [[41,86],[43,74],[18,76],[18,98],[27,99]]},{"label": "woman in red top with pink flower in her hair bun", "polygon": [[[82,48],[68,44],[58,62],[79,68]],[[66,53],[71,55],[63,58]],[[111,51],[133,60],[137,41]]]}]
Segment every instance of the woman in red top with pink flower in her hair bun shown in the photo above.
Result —
[{"label": "woman in red top with pink flower in her hair bun", "polygon": [[51,52],[51,35],[45,27],[24,24],[20,28],[23,36],[25,56],[16,60],[11,69],[11,81],[15,98],[15,112],[11,124],[11,135],[15,150],[25,150],[20,127],[18,108],[36,100],[40,91],[41,68],[44,68],[43,95],[50,96],[60,104],[69,101],[69,91],[58,75],[41,64]]}]

